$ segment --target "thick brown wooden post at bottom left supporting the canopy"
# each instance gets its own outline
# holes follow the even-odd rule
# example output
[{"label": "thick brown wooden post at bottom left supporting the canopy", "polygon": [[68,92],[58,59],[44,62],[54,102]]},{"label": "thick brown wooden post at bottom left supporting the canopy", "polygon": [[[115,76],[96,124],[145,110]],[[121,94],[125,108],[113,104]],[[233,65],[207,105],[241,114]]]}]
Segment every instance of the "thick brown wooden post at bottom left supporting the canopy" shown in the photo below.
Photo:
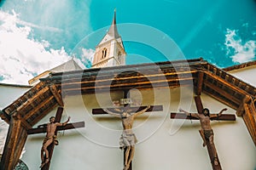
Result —
[{"label": "thick brown wooden post at bottom left supporting the canopy", "polygon": [[15,169],[20,159],[21,151],[26,143],[26,137],[26,128],[21,126],[21,121],[11,118],[0,163],[1,170]]}]

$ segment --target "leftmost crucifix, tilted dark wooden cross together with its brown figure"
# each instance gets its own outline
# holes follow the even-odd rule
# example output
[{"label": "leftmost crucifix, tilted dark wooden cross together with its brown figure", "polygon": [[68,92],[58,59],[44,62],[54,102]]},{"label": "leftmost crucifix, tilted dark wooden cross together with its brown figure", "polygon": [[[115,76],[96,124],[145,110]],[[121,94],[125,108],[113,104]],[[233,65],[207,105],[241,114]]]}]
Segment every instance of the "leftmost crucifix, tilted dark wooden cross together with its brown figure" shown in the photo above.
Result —
[{"label": "leftmost crucifix, tilted dark wooden cross together with its brown figure", "polygon": [[[45,137],[44,144],[49,143],[49,142],[50,142],[50,144],[47,144],[49,146],[45,148],[46,151],[48,152],[45,155],[44,155],[44,152],[43,152],[44,151],[44,144],[43,144],[43,147],[42,147],[42,150],[41,150],[41,158],[42,158],[42,164],[40,166],[41,170],[49,170],[49,164],[50,164],[51,157],[53,155],[53,150],[55,148],[55,145],[58,144],[58,142],[56,140],[57,132],[61,131],[61,130],[84,127],[84,122],[67,123],[69,121],[70,117],[68,117],[67,122],[60,123],[62,112],[63,112],[63,108],[58,107],[58,110],[56,112],[55,117],[50,117],[50,123],[55,123],[55,127],[54,127],[55,132],[54,132],[54,137],[52,139],[47,139],[48,138],[47,136]],[[29,129],[27,133],[28,134],[49,133],[49,128],[50,127],[48,125],[50,125],[50,123],[39,125],[37,128]]]}]

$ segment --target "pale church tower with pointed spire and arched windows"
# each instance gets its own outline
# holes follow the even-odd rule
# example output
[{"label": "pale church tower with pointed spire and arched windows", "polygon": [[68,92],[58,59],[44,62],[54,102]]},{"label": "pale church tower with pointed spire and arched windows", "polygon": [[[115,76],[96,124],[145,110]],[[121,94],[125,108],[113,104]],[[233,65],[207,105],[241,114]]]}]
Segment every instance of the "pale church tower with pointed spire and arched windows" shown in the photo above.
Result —
[{"label": "pale church tower with pointed spire and arched windows", "polygon": [[125,48],[116,26],[114,10],[112,25],[102,41],[96,46],[92,67],[125,65]]}]

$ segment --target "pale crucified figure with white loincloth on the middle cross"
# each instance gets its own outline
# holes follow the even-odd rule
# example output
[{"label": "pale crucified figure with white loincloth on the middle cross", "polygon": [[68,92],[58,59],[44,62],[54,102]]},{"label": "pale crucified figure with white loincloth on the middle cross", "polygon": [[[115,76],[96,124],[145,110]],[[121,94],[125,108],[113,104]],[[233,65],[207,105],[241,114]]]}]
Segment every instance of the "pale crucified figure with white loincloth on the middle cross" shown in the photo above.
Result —
[{"label": "pale crucified figure with white loincloth on the middle cross", "polygon": [[124,129],[119,139],[119,148],[121,150],[124,150],[126,148],[124,170],[127,170],[131,164],[132,158],[134,156],[135,144],[137,143],[137,138],[135,134],[132,133],[132,124],[133,124],[134,118],[138,115],[143,114],[149,108],[150,108],[150,105],[148,105],[142,111],[138,111],[134,113],[130,113],[130,111],[127,109],[124,109],[124,110],[115,109],[115,111],[117,111],[118,113],[108,111],[108,109],[103,110],[103,111],[106,111],[109,115],[119,117],[122,120]]}]

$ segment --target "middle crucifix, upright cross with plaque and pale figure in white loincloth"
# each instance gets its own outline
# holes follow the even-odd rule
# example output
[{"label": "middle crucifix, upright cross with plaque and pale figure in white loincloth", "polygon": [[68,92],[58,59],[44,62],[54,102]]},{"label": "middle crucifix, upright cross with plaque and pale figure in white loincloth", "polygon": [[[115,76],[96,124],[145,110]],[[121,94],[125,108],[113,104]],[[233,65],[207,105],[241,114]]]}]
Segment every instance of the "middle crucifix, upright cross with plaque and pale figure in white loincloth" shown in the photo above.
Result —
[{"label": "middle crucifix, upright cross with plaque and pale figure in white loincloth", "polygon": [[112,116],[119,117],[123,125],[123,133],[119,139],[119,148],[124,150],[124,170],[131,170],[131,161],[135,152],[135,144],[137,143],[137,138],[132,132],[132,124],[134,118],[148,111],[163,111],[162,105],[148,105],[131,107],[132,100],[129,99],[128,91],[125,91],[125,99],[120,99],[116,102],[121,105],[117,108],[108,109],[93,109],[92,114],[109,114]]}]

